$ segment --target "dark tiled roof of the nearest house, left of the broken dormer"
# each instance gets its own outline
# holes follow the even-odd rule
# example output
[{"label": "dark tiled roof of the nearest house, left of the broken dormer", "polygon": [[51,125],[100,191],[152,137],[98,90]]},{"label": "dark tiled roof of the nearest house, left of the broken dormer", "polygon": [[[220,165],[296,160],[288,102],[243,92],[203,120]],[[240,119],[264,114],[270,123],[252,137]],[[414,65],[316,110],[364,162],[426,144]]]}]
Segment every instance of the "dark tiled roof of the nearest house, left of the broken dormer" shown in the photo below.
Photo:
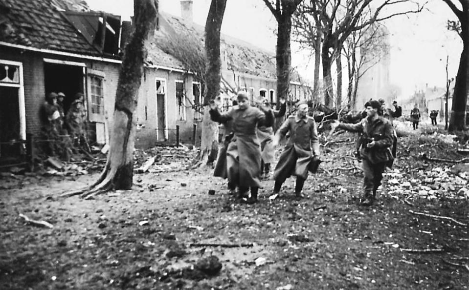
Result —
[{"label": "dark tiled roof of the nearest house, left of the broken dormer", "polygon": [[60,1],[0,0],[0,41],[40,49],[100,55],[59,11],[56,3]]}]

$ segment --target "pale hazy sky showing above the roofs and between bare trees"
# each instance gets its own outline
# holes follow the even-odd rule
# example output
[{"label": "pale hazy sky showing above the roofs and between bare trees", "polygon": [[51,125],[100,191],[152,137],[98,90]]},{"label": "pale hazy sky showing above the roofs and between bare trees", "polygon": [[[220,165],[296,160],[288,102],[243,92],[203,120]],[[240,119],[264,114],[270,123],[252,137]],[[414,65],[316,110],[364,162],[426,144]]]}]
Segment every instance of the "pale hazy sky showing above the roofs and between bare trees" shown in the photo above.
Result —
[{"label": "pale hazy sky showing above the roofs and between bare trees", "polygon": [[[124,20],[133,15],[133,0],[87,2],[93,10],[121,15]],[[205,24],[209,5],[210,0],[194,0],[196,23]],[[391,83],[402,88],[402,97],[426,84],[444,87],[447,55],[449,76],[457,73],[462,42],[456,33],[446,29],[447,19],[455,17],[442,0],[430,0],[426,7],[418,15],[401,16],[385,23],[391,34]],[[159,9],[180,16],[179,0],[159,0]],[[227,1],[222,33],[274,51],[275,27],[276,21],[262,0]],[[313,62],[305,58],[304,52],[293,49],[292,65],[298,67],[306,78],[313,79]]]}]

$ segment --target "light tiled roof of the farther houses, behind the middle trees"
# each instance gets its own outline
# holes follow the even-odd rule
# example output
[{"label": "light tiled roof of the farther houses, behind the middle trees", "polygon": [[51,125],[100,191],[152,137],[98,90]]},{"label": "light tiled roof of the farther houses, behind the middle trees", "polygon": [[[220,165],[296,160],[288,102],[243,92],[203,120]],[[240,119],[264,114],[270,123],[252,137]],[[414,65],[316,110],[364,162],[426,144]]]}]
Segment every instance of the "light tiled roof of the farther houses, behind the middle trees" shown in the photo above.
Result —
[{"label": "light tiled roof of the farther houses, behind the middle trees", "polygon": [[[204,27],[193,22],[184,21],[165,12],[160,12],[160,16],[168,22],[175,33],[191,34],[203,41]],[[256,47],[248,42],[229,37],[221,36],[222,49],[226,53],[229,70],[260,76],[269,79],[276,79],[275,54]]]}]

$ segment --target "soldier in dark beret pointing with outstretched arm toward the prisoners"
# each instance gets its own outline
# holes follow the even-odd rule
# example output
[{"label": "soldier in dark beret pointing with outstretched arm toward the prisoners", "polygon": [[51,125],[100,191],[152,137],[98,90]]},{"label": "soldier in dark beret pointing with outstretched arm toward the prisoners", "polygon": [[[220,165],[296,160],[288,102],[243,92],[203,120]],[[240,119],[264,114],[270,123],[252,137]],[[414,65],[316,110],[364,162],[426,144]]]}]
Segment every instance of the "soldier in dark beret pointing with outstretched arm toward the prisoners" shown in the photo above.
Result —
[{"label": "soldier in dark beret pointing with outstretched arm toward the prisoners", "polygon": [[360,155],[363,168],[364,195],[361,205],[371,206],[376,198],[376,191],[381,185],[382,173],[394,160],[391,152],[393,145],[393,126],[379,116],[381,104],[372,100],[365,104],[367,117],[357,124],[334,123],[333,128],[344,129],[363,134]]}]

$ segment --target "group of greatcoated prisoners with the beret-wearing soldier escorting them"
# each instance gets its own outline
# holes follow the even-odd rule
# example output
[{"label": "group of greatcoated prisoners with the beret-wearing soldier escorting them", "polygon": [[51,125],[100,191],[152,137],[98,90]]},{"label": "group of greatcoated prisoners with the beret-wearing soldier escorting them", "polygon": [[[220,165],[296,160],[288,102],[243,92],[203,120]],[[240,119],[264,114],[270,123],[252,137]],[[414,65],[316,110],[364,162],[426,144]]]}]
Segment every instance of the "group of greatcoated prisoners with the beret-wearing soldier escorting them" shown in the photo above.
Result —
[{"label": "group of greatcoated prisoners with the beret-wearing soldier escorting them", "polygon": [[[284,100],[281,100],[280,110],[274,111],[265,98],[251,105],[246,92],[239,92],[236,103],[225,113],[219,111],[216,102],[210,103],[212,121],[225,126],[224,142],[214,175],[228,179],[230,194],[248,204],[256,203],[261,176],[268,176],[266,170],[270,170],[275,146],[288,136],[274,169],[275,185],[271,194],[280,194],[285,180],[295,176],[294,193],[298,198],[304,197],[302,190],[308,172],[315,172],[321,161],[317,125],[308,115],[308,104],[296,103],[296,113],[289,116],[274,133],[272,125],[275,117],[282,116],[286,111]],[[360,203],[363,206],[373,204],[382,173],[386,167],[392,166],[396,157],[397,135],[392,118],[399,115],[400,106],[396,103],[394,107],[394,110],[384,110],[382,103],[370,100],[365,104],[363,118],[357,124],[334,122],[332,125],[333,129],[361,134],[359,154],[364,172],[364,194]]]}]

